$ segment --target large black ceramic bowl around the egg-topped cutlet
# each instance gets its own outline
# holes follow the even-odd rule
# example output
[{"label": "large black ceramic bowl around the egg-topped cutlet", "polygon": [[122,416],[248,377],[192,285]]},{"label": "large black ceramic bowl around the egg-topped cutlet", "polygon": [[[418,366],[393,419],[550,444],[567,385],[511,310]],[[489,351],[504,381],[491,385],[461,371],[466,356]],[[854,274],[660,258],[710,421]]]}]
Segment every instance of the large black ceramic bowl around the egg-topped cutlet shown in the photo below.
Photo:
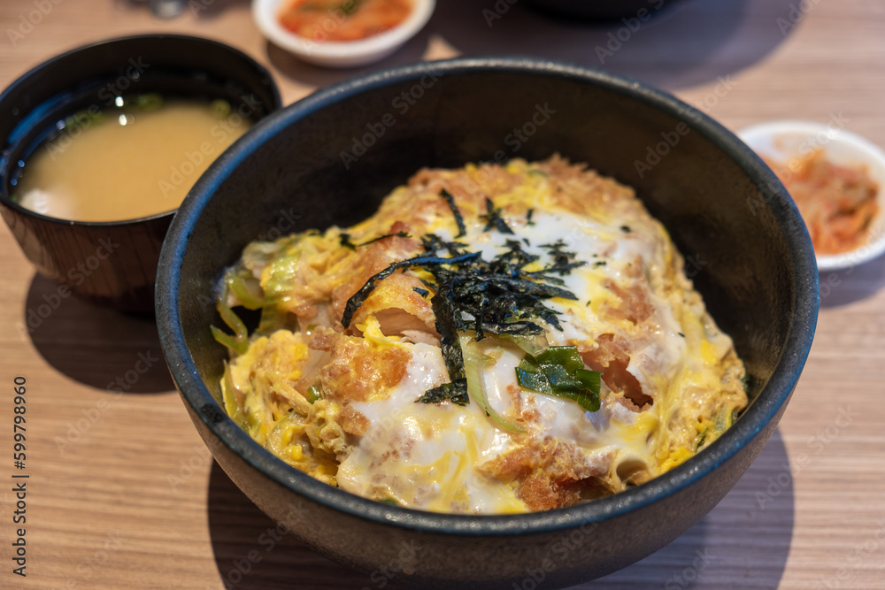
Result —
[{"label": "large black ceramic bowl around the egg-topped cutlet", "polygon": [[[514,141],[516,129],[527,141]],[[226,352],[209,331],[221,323],[206,298],[247,242],[352,224],[421,166],[554,151],[634,186],[695,261],[696,286],[750,375],[752,402],[720,440],[622,494],[563,510],[470,517],[404,510],[328,487],[283,464],[227,417],[219,405]],[[186,199],[160,257],[157,299],[173,378],[235,484],[312,547],[365,571],[401,563],[403,543],[413,541],[417,556],[396,581],[427,587],[523,587],[532,572],[544,586],[565,586],[674,540],[765,445],[802,370],[817,311],[802,219],[735,135],[638,82],[488,58],[376,73],[261,122]]]}]

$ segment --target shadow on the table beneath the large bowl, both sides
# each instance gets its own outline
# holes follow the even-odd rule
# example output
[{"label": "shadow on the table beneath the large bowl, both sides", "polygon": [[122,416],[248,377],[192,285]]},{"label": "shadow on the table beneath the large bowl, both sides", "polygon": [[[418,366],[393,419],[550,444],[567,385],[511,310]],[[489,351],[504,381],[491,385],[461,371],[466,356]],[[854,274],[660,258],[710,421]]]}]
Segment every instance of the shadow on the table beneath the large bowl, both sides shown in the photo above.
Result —
[{"label": "shadow on the table beneath the large bowl, both sides", "polygon": [[[380,587],[369,575],[327,560],[291,535],[274,540],[276,525],[212,465],[209,529],[219,576],[242,590],[266,588]],[[594,589],[649,587],[777,587],[793,534],[793,480],[781,435],[775,431],[737,486],[679,539],[632,566],[581,586]],[[308,574],[309,572],[309,574]]]}]

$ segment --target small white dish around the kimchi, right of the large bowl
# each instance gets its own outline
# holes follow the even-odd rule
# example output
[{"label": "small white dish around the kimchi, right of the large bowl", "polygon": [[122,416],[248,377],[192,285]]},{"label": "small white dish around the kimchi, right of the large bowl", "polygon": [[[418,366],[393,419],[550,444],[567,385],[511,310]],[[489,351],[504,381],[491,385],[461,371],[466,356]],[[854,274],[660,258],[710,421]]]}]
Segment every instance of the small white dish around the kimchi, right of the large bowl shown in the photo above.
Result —
[{"label": "small white dish around the kimchi, right of the large bowl", "polygon": [[744,127],[737,135],[759,156],[786,162],[824,150],[824,156],[836,165],[866,165],[866,172],[879,186],[876,201],[879,211],[858,248],[842,254],[817,254],[818,271],[832,272],[873,260],[885,252],[885,152],[858,134],[839,126],[838,119],[828,124],[809,121],[771,121]]}]

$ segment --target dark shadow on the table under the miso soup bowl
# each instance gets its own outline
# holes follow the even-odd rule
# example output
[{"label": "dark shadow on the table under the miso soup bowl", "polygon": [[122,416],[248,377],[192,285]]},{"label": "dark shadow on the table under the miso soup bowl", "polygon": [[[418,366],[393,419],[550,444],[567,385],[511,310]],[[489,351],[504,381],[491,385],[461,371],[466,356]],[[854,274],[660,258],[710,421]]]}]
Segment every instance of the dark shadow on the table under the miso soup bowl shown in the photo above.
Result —
[{"label": "dark shadow on the table under the miso soup bowl", "polygon": [[[61,296],[60,293],[66,293]],[[89,303],[35,274],[16,326],[58,372],[91,387],[150,394],[174,389],[154,318]]]}]

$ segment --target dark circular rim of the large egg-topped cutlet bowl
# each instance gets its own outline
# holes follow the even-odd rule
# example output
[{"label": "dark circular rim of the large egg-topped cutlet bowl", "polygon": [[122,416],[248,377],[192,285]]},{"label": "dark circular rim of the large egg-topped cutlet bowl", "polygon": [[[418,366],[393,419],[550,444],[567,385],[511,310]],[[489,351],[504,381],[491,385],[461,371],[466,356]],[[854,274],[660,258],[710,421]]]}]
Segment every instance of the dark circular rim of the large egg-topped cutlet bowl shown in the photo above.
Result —
[{"label": "dark circular rim of the large egg-topped cutlet bowl", "polygon": [[[553,75],[578,80],[582,83],[602,86],[610,91],[628,94],[636,100],[650,103],[678,119],[692,120],[692,129],[718,145],[733,157],[738,165],[760,186],[765,183],[773,198],[768,200],[773,215],[784,227],[787,241],[795,247],[793,259],[792,301],[793,322],[789,328],[784,350],[774,367],[772,376],[759,392],[743,416],[735,422],[720,439],[709,448],[690,458],[684,464],[649,482],[611,496],[583,502],[567,508],[513,515],[460,515],[425,512],[389,506],[368,500],[331,487],[297,471],[258,445],[250,436],[236,426],[227,412],[210,394],[196,369],[193,356],[187,348],[177,303],[181,284],[181,264],[188,249],[189,235],[197,218],[212,198],[220,183],[239,165],[250,151],[274,135],[280,134],[289,124],[309,117],[313,111],[341,98],[358,95],[373,88],[391,83],[409,83],[428,73],[476,74],[520,73],[524,75]],[[424,533],[446,533],[470,536],[502,534],[546,533],[567,529],[576,525],[589,525],[619,517],[652,502],[675,494],[702,479],[720,464],[735,456],[759,431],[763,430],[781,411],[789,400],[811,348],[817,322],[819,293],[816,265],[812,255],[811,240],[804,228],[796,206],[786,198],[777,177],[765,163],[735,134],[702,112],[686,103],[641,82],[629,80],[612,73],[577,65],[514,57],[461,57],[440,62],[424,62],[405,65],[360,78],[345,81],[334,87],[314,93],[289,105],[259,122],[228,152],[225,166],[213,164],[197,181],[195,188],[182,204],[167,234],[157,279],[157,319],[162,348],[166,355],[173,380],[191,410],[228,449],[243,461],[281,487],[288,488],[298,496],[332,510],[339,510],[351,517],[380,524],[395,524],[406,529]],[[780,196],[781,198],[778,198]],[[220,413],[220,417],[219,417]]]}]

